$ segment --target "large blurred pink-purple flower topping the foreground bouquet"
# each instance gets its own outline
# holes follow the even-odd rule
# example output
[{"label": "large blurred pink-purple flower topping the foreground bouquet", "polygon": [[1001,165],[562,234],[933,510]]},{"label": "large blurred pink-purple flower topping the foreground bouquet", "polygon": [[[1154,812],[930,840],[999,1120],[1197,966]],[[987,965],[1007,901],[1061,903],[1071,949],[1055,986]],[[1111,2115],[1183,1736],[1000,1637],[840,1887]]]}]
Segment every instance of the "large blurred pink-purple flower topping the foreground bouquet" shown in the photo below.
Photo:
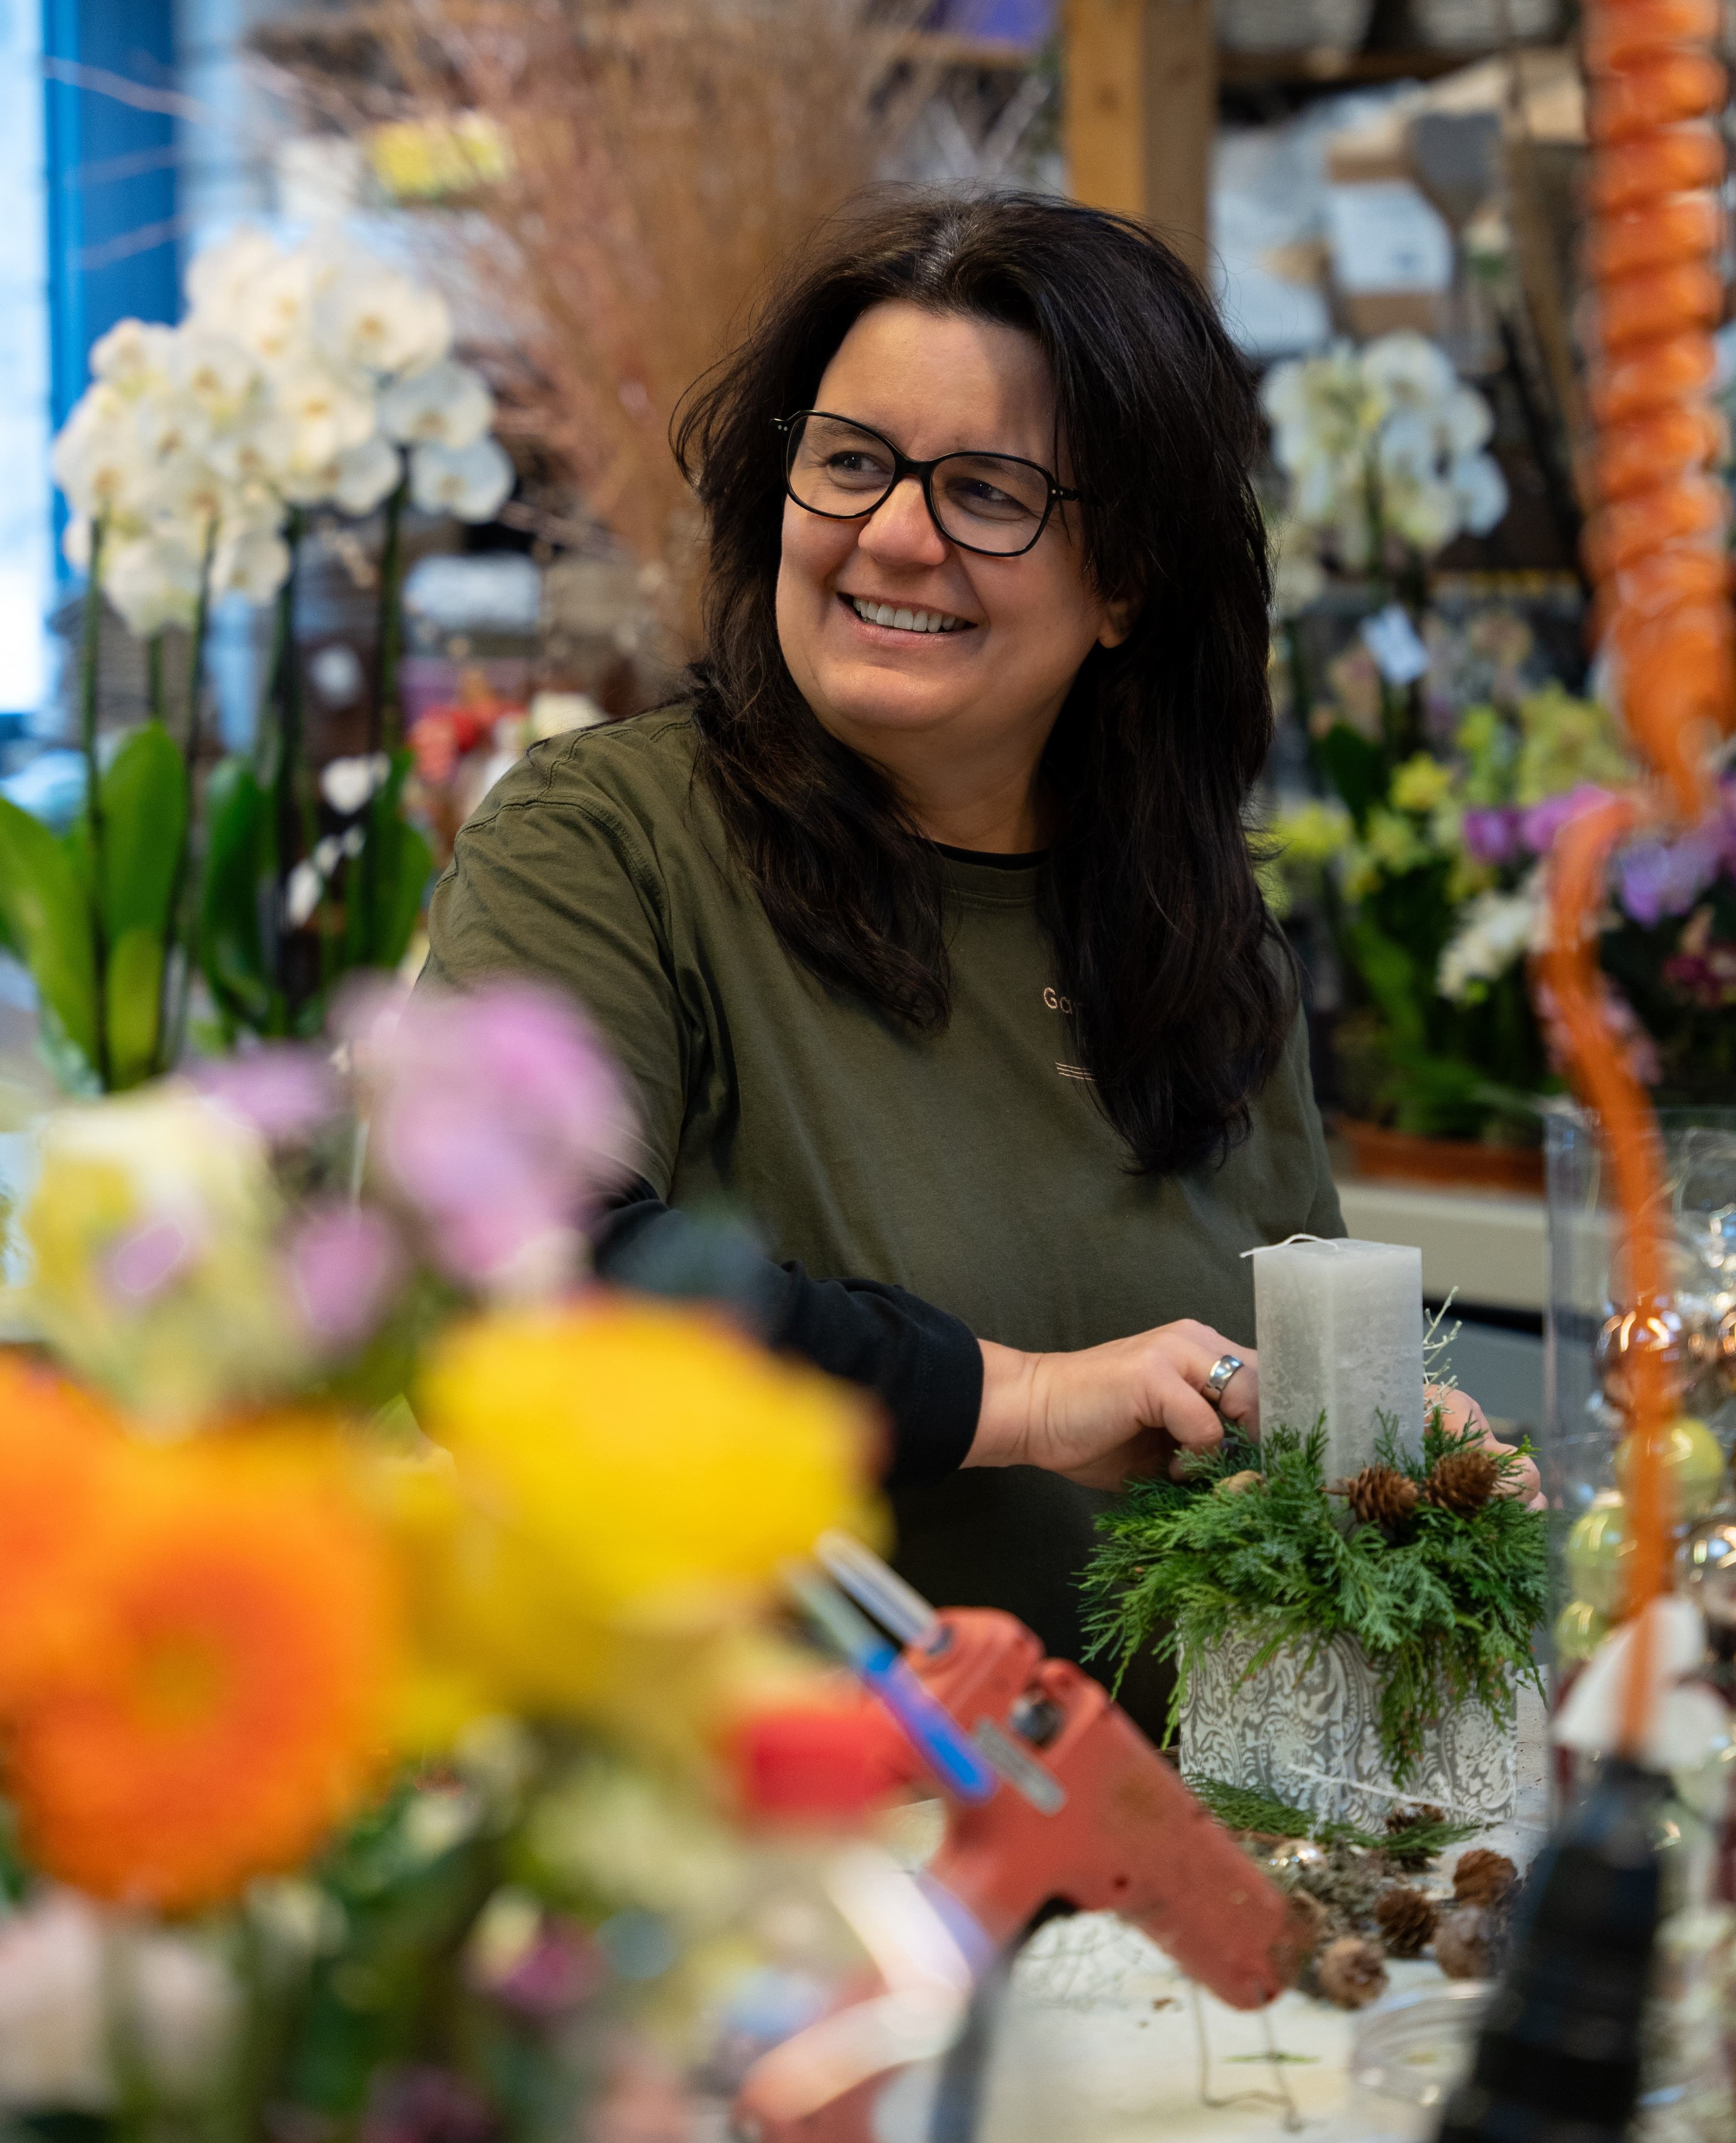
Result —
[{"label": "large blurred pink-purple flower topping the foreground bouquet", "polygon": [[373,1153],[429,1222],[439,1262],[476,1286],[549,1286],[574,1230],[626,1174],[632,1112],[602,1041],[529,981],[418,990],[394,1026],[358,1007]]}]

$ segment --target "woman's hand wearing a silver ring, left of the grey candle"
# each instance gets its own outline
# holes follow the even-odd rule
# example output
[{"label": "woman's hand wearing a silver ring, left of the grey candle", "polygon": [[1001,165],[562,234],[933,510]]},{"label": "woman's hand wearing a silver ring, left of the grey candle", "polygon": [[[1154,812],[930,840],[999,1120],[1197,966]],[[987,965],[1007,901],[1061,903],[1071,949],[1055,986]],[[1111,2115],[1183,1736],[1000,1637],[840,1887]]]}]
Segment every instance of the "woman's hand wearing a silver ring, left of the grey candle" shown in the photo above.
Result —
[{"label": "woman's hand wearing a silver ring, left of the grey candle", "polygon": [[[1042,1466],[1082,1487],[1121,1487],[1132,1474],[1177,1470],[1183,1451],[1209,1451],[1234,1421],[1260,1429],[1260,1359],[1209,1324],[1181,1318],[1074,1354],[982,1346],[982,1412],[967,1466]],[[1204,1397],[1213,1363],[1237,1354],[1222,1408]]]}]

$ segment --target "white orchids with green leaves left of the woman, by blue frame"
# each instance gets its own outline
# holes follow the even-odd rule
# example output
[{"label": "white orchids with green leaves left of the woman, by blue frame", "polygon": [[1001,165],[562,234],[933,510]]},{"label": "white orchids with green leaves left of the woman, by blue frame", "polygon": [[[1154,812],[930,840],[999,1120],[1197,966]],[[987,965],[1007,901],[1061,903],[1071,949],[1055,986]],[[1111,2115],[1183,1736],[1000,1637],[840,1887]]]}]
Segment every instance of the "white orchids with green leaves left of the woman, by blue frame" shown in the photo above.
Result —
[{"label": "white orchids with green leaves left of the woman, by blue frame", "polygon": [[[317,1033],[332,984],[392,966],[429,849],[405,823],[396,649],[403,514],[487,521],[512,486],[493,396],[450,356],[444,300],[336,236],[244,229],[201,253],[176,328],[122,321],[54,450],[86,574],[84,806],[58,838],[0,801],[0,945],[32,971],[73,1087],[126,1089],[180,1059],[195,969],[223,1037]],[[306,514],[384,512],[366,750],[317,776],[296,658]],[[199,780],[204,643],[223,598],[274,602],[251,761]],[[150,720],[99,748],[101,604],[146,641]],[[171,735],[163,643],[191,641]]]}]

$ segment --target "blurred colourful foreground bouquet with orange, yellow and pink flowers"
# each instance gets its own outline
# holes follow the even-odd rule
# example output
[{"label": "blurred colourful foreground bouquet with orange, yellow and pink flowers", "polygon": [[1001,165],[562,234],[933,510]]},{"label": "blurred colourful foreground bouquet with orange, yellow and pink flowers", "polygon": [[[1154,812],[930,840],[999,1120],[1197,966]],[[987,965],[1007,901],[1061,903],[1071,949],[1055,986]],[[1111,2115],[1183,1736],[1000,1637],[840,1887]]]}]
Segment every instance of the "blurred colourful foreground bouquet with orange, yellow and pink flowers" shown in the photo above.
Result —
[{"label": "blurred colourful foreground bouquet with orange, yellow and pink flowers", "polygon": [[36,1123],[6,1307],[41,1346],[0,1350],[9,2111],[542,2132],[624,2019],[679,2047],[746,1882],[729,1732],[814,1693],[778,1569],[874,1513],[853,1397],[585,1286],[630,1134],[521,986],[351,994],[334,1056]]}]

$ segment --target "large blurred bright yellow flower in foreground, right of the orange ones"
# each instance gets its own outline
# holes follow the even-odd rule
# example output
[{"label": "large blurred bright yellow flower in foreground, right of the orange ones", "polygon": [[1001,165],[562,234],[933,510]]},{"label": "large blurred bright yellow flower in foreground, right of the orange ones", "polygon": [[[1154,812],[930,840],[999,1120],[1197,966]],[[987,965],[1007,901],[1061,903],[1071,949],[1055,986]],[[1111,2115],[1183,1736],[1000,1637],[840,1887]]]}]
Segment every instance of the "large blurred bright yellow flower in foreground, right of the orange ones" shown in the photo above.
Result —
[{"label": "large blurred bright yellow flower in foreground, right of the orange ones", "polygon": [[450,1464],[390,1483],[429,1663],[420,1725],[656,1702],[827,1526],[879,1532],[870,1421],[718,1316],[596,1294],[457,1327],[416,1391]]}]

